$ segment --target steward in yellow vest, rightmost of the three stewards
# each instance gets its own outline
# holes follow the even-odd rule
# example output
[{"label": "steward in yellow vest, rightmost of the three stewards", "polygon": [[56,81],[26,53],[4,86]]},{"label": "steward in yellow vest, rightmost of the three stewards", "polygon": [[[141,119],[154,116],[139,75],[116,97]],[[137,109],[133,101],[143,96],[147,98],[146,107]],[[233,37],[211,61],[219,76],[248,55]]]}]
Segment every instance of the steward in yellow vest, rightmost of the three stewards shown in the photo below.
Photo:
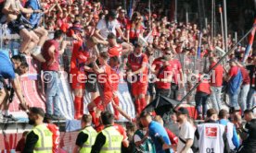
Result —
[{"label": "steward in yellow vest, rightmost of the three stewards", "polygon": [[121,153],[123,137],[113,126],[114,115],[108,111],[101,112],[101,122],[105,128],[96,135],[91,153]]}]

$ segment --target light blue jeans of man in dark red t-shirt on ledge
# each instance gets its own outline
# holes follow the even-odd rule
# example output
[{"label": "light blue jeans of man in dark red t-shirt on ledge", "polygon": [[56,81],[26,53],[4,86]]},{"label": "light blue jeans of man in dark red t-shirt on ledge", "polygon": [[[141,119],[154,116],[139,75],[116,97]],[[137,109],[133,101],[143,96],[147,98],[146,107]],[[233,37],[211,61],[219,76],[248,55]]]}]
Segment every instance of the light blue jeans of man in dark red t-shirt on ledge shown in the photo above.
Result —
[{"label": "light blue jeans of man in dark red t-shirt on ledge", "polygon": [[[45,71],[45,95],[46,95],[46,113],[60,115],[59,112],[59,77],[56,71]],[[53,112],[54,111],[54,112]]]}]

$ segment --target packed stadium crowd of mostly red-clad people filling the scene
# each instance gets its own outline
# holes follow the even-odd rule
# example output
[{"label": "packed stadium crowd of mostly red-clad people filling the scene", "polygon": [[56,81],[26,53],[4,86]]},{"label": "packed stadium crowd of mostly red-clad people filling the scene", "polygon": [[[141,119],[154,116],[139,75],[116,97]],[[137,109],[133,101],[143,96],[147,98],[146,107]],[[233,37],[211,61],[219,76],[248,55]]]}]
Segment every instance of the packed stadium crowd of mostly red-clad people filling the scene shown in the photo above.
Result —
[{"label": "packed stadium crowd of mostly red-clad people filling the scene", "polygon": [[[19,54],[9,57],[0,52],[0,119],[15,120],[8,111],[9,90],[13,89],[20,109],[34,125],[19,151],[58,152],[58,128],[49,121],[65,120],[58,108],[59,71],[63,70],[59,58],[71,46],[68,73],[74,119],[81,120],[83,127],[73,152],[256,152],[252,110],[256,105],[256,56],[252,49],[243,62],[245,48],[239,45],[219,65],[223,53],[216,48],[224,48],[222,35],[211,38],[210,26],[199,29],[196,23],[172,22],[159,9],[160,4],[153,4],[152,10],[136,8],[131,17],[122,6],[108,9],[97,1],[6,0],[0,4],[1,24],[22,40]],[[232,35],[227,42],[229,49],[236,44]],[[5,38],[4,45],[8,45]],[[177,58],[181,54],[207,59],[210,64],[204,70],[185,71]],[[19,76],[28,71],[25,56],[39,61],[44,71],[45,111],[30,108],[23,98]],[[207,79],[205,74],[212,67]],[[193,80],[186,79],[192,74]],[[128,84],[136,118],[119,107],[121,79]],[[173,111],[168,122],[155,112],[143,111],[158,96],[180,100],[180,91],[189,90],[195,80],[202,80],[195,92],[200,124],[195,124],[185,107]],[[86,106],[90,114],[83,114],[85,90],[91,98]],[[230,101],[228,110],[225,94]],[[113,113],[106,111],[109,103]],[[120,115],[131,121],[126,129],[114,123]],[[44,118],[48,124],[43,124]]]}]

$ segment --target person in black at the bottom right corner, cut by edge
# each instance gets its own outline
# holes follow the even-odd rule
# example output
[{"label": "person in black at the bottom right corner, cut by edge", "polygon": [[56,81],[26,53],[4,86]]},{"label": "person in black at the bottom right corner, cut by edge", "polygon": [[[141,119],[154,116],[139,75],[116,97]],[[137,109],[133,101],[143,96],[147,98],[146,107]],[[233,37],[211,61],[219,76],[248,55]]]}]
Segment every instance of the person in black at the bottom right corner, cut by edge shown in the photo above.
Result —
[{"label": "person in black at the bottom right corner, cut by edge", "polygon": [[256,152],[256,118],[252,110],[246,110],[244,112],[244,119],[247,121],[243,128],[244,133],[247,134],[247,138],[243,141],[241,147],[238,149],[238,153],[255,153]]}]

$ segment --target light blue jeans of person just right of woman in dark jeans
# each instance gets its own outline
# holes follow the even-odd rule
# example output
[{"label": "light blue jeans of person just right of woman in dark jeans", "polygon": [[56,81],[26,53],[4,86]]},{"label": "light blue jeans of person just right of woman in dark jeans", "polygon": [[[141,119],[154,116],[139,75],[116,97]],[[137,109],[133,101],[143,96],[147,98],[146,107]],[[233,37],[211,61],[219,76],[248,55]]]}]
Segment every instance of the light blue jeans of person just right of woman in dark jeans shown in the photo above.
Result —
[{"label": "light blue jeans of person just right of woman in dark jeans", "polygon": [[213,109],[215,109],[217,112],[222,110],[222,87],[213,87],[211,86],[211,96],[210,100],[213,104]]}]

